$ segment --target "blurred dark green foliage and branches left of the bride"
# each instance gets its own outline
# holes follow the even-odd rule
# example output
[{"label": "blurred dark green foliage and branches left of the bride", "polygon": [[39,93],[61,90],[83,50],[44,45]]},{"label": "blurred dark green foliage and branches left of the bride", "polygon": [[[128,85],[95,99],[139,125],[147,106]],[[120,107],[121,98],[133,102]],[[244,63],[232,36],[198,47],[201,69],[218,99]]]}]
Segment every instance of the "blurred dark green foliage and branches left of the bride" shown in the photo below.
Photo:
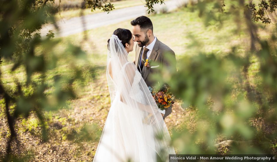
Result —
[{"label": "blurred dark green foliage and branches left of the bride", "polygon": [[[11,144],[16,142],[15,123],[20,118],[28,118],[35,114],[41,126],[42,141],[48,140],[48,125],[45,111],[54,111],[68,107],[67,101],[76,97],[76,91],[82,88],[86,78],[94,78],[97,67],[87,61],[87,55],[80,47],[65,45],[61,53],[54,51],[60,39],[52,39],[54,34],[49,31],[41,37],[39,30],[43,24],[55,25],[53,14],[58,10],[49,5],[51,1],[23,0],[0,2],[0,55],[13,62],[11,74],[14,85],[2,82],[0,72],[1,108],[5,110],[5,118],[9,125],[9,135],[5,154],[0,158],[11,160]],[[1,59],[0,59],[1,61]],[[1,66],[4,62],[1,61]],[[59,71],[59,65],[66,71]],[[25,70],[24,78],[16,77],[16,70]],[[22,80],[23,82],[22,82]],[[22,151],[24,152],[24,151]],[[18,159],[22,161],[22,159]]]}]

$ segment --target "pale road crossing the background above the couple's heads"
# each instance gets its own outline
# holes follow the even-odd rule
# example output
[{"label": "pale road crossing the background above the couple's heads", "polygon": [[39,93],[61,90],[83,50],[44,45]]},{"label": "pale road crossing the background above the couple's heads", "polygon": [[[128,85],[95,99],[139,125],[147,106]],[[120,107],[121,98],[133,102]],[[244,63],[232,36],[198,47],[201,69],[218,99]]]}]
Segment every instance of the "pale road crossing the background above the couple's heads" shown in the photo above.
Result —
[{"label": "pale road crossing the background above the couple's heads", "polygon": [[[170,0],[165,1],[165,4],[154,5],[154,9],[159,11],[160,8],[165,7],[168,11],[177,9],[188,0]],[[144,5],[127,7],[111,11],[109,14],[101,12],[97,14],[90,14],[83,17],[74,17],[68,20],[60,20],[57,25],[60,27],[59,33],[55,34],[56,37],[65,37],[71,34],[83,32],[85,30],[103,27],[110,24],[116,24],[129,19],[135,19],[138,16],[146,15],[146,8]],[[83,22],[85,25],[83,25]],[[41,29],[42,36],[45,36],[49,30],[55,31],[53,25],[46,25]]]}]

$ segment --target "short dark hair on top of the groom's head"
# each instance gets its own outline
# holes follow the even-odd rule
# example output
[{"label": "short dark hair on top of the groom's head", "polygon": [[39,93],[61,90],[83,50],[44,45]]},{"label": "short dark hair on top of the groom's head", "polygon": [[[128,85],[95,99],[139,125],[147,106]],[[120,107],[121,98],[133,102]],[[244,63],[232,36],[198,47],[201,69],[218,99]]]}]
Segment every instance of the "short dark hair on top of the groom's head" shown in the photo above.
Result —
[{"label": "short dark hair on top of the groom's head", "polygon": [[146,16],[137,17],[136,19],[131,21],[131,25],[133,26],[139,25],[141,30],[143,30],[144,32],[147,32],[149,29],[151,29],[153,32],[153,24],[151,20]]}]

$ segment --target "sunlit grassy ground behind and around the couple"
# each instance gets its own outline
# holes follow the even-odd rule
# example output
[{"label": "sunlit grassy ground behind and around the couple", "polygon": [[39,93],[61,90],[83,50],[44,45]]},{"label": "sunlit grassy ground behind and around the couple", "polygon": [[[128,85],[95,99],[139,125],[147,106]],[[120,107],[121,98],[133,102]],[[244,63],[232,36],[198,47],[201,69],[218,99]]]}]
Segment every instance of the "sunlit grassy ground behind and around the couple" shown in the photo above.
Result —
[{"label": "sunlit grassy ground behind and around the couple", "polygon": [[[123,8],[139,4],[143,3],[130,0],[124,5],[119,1],[115,3],[115,6],[116,8]],[[68,11],[68,13],[71,12],[70,14],[66,14],[66,12],[64,11],[62,16],[70,17],[70,15],[74,15],[72,11]],[[78,12],[76,11],[76,13]],[[225,20],[221,27],[216,23],[205,27],[203,20],[198,17],[198,13],[191,12],[188,8],[179,9],[169,14],[153,15],[149,18],[154,24],[154,35],[175,52],[177,66],[182,63],[178,62],[178,60],[184,55],[213,52],[221,56],[229,52],[232,46],[243,44],[245,41],[244,33],[240,37],[233,34],[235,25],[232,19]],[[87,31],[88,40],[86,41],[83,40],[83,34],[81,33],[61,38],[61,42],[55,47],[57,53],[63,52],[65,44],[80,45],[87,52],[89,63],[99,67],[98,80],[93,82],[91,79],[87,82],[86,87],[78,92],[78,99],[69,101],[70,109],[50,111],[45,114],[50,130],[50,140],[48,142],[43,143],[40,140],[39,123],[37,123],[37,119],[33,115],[27,120],[17,122],[16,128],[18,129],[19,140],[25,148],[31,150],[29,153],[35,155],[32,160],[91,161],[93,159],[99,135],[110,108],[110,96],[105,76],[107,40],[117,28],[131,29],[130,21],[89,30]],[[37,50],[39,51],[39,49]],[[243,51],[243,49],[240,50]],[[134,56],[134,51],[130,52],[128,59],[132,61]],[[62,65],[62,62],[58,65],[60,65],[57,68],[59,72],[67,69]],[[23,68],[11,73],[11,66],[10,62],[4,60],[1,65],[1,71],[3,72],[1,80],[6,85],[12,86],[14,85],[13,78],[23,82],[22,78],[24,78],[25,73]],[[7,123],[4,121],[4,107],[1,102],[0,123],[3,127],[1,126],[0,130],[0,151],[4,150],[5,139],[8,136],[6,133],[8,130]],[[183,109],[180,106],[180,102],[177,101],[173,106],[172,114],[165,120],[169,132],[171,133],[172,128],[182,128],[184,125],[189,129],[193,129],[192,116],[191,111]],[[90,127],[99,130],[99,134],[93,135],[98,138],[81,143],[70,140],[67,134],[80,130],[84,124],[90,124]],[[178,150],[176,151],[178,152]]]}]

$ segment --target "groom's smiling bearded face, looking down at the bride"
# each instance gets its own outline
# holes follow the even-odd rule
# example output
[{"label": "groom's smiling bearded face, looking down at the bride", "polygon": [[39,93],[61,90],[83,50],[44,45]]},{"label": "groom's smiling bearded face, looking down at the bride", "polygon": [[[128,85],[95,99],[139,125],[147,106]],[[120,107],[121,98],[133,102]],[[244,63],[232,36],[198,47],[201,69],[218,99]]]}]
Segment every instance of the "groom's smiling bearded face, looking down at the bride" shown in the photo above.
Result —
[{"label": "groom's smiling bearded face, looking down at the bride", "polygon": [[138,42],[139,47],[145,46],[149,42],[149,38],[147,37],[146,32],[141,31],[141,28],[139,25],[132,26],[133,29],[133,35],[135,37],[134,41]]}]

